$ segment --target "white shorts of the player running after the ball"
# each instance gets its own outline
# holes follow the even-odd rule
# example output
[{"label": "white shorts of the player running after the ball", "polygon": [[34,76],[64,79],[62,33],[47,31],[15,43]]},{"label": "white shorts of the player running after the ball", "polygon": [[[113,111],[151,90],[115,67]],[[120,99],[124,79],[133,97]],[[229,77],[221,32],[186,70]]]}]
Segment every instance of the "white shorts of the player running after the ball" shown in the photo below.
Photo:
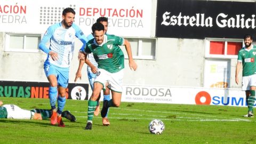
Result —
[{"label": "white shorts of the player running after the ball", "polygon": [[118,93],[122,93],[124,69],[118,71],[117,73],[109,73],[104,69],[98,69],[97,77],[94,81],[99,82],[103,85],[103,89],[106,89],[106,84],[110,90]]}]

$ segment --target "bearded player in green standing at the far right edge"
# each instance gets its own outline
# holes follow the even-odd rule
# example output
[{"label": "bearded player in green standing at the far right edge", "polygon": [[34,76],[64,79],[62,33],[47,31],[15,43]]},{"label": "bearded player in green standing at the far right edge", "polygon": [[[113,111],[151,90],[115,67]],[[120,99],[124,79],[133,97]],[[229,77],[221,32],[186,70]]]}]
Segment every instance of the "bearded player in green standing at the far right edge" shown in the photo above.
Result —
[{"label": "bearded player in green standing at the far right edge", "polygon": [[253,106],[256,100],[256,46],[252,45],[251,35],[244,36],[244,44],[245,47],[238,52],[236,84],[239,83],[238,74],[243,65],[242,90],[245,91],[248,106],[248,113],[244,117],[253,117]]}]

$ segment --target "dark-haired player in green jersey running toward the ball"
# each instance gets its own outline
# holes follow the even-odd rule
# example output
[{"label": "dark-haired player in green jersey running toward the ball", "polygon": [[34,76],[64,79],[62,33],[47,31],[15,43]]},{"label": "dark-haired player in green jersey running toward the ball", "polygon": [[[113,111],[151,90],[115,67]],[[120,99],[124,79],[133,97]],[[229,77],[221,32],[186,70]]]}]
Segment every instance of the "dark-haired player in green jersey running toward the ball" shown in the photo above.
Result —
[{"label": "dark-haired player in green jersey running toward the ball", "polygon": [[[92,26],[94,39],[86,43],[84,54],[93,53],[95,61],[98,63],[97,77],[93,83],[94,89],[88,101],[88,118],[85,130],[92,129],[93,112],[97,106],[97,99],[100,91],[108,87],[111,90],[112,99],[104,100],[101,109],[101,117],[105,117],[109,107],[119,107],[122,96],[124,54],[119,46],[124,45],[131,69],[136,70],[137,64],[132,58],[131,45],[129,41],[115,35],[105,35],[104,26],[101,23],[94,23]],[[81,65],[80,60],[79,65]],[[77,78],[77,77],[76,77]]]}]

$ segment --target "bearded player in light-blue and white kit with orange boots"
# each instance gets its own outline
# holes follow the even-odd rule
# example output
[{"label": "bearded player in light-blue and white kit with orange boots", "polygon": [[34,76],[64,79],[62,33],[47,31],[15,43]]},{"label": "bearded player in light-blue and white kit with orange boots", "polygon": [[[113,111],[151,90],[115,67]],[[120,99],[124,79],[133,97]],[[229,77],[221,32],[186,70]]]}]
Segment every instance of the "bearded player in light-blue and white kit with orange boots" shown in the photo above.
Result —
[{"label": "bearded player in light-blue and white kit with orange boots", "polygon": [[[39,43],[39,49],[47,54],[44,71],[50,82],[49,98],[52,109],[51,124],[65,127],[61,112],[66,103],[69,67],[74,53],[75,37],[85,46],[87,39],[82,30],[75,25],[75,11],[68,7],[62,12],[62,21],[50,26]],[[46,43],[50,41],[50,47]],[[57,87],[58,86],[58,87]],[[58,88],[58,89],[57,89]],[[58,90],[58,91],[57,91]],[[59,93],[57,98],[57,93]],[[58,109],[55,104],[58,102]]]}]

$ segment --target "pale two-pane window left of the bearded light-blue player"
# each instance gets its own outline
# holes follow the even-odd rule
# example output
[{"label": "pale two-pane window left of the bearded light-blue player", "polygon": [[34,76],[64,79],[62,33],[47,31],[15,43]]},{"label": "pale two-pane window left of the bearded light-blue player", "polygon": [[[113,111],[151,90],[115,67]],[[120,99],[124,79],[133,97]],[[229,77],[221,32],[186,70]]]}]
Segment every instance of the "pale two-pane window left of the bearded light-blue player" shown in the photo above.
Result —
[{"label": "pale two-pane window left of the bearded light-blue player", "polygon": [[41,34],[6,33],[5,51],[11,52],[39,52],[38,44]]}]

